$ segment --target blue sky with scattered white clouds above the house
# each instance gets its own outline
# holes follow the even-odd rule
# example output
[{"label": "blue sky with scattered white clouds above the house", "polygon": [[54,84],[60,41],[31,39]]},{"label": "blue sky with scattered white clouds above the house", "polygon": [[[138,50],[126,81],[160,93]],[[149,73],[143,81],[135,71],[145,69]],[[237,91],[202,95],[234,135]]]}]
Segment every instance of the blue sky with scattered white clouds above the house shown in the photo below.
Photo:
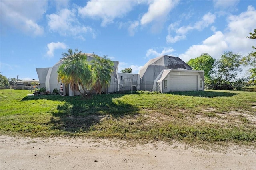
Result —
[{"label": "blue sky with scattered white clouds above the house", "polygon": [[202,53],[247,55],[254,29],[254,0],[1,0],[0,72],[38,79],[36,68],[76,48],[132,73],[161,55],[185,62]]}]

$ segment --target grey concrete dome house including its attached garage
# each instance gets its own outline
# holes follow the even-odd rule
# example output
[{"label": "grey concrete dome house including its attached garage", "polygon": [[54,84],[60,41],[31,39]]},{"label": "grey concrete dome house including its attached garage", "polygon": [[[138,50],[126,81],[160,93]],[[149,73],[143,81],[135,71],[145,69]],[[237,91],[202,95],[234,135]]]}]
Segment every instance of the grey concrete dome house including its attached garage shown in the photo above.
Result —
[{"label": "grey concrete dome house including its attached garage", "polygon": [[[88,61],[94,58],[93,54],[87,54]],[[119,61],[114,62],[114,72],[108,88],[104,93],[112,93],[126,90],[149,90],[174,92],[174,91],[197,91],[204,90],[204,71],[192,70],[192,68],[178,57],[164,55],[148,61],[138,74],[118,73]],[[57,80],[57,70],[62,60],[50,68],[36,68],[40,86],[46,87],[50,92],[54,88],[60,89]],[[63,95],[79,95],[72,92],[68,84],[62,84]],[[82,88],[81,88],[81,92]]]}]

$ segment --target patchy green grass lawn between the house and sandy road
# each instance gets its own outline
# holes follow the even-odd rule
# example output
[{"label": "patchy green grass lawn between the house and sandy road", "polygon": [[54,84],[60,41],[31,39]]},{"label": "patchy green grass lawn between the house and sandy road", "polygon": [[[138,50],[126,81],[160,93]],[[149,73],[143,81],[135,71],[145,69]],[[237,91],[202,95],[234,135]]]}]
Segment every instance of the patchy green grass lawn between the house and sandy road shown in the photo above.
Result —
[{"label": "patchy green grass lawn between the house and sandy road", "polygon": [[0,90],[0,133],[256,145],[256,92],[27,96]]}]

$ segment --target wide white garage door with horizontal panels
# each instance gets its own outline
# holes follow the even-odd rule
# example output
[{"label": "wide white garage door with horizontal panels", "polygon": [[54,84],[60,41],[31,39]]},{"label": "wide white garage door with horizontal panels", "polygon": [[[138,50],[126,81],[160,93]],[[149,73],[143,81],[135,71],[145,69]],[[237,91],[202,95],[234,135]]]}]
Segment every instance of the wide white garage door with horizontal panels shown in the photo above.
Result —
[{"label": "wide white garage door with horizontal panels", "polygon": [[170,75],[170,91],[196,91],[197,82],[197,76]]}]

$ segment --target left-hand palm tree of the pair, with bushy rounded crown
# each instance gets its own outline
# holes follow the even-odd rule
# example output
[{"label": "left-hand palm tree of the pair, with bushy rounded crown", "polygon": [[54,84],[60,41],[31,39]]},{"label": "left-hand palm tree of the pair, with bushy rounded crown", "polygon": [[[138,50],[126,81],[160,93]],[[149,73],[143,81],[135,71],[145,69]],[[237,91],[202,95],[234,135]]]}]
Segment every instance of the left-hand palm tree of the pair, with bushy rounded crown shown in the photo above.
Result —
[{"label": "left-hand palm tree of the pair, with bushy rounded crown", "polygon": [[[58,82],[70,84],[71,90],[80,92],[79,85],[82,86],[84,92],[85,86],[91,82],[90,66],[87,63],[87,56],[75,49],[68,49],[68,53],[62,53],[63,63],[58,67]],[[80,94],[82,94],[80,92]]]}]

